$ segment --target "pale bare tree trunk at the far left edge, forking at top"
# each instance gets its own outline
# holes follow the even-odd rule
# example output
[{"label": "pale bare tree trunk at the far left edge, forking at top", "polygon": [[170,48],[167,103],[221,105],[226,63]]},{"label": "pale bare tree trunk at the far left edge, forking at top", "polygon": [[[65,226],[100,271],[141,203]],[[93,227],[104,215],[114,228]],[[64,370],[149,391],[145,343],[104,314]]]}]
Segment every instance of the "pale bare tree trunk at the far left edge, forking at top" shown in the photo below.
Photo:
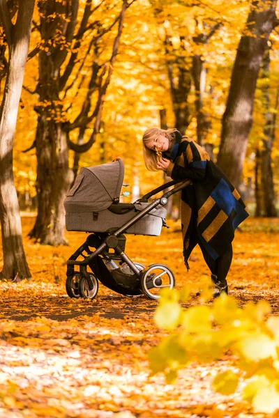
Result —
[{"label": "pale bare tree trunk at the far left edge, forking at top", "polygon": [[9,45],[8,73],[0,111],[0,219],[3,244],[1,277],[31,277],[22,242],[20,208],[13,179],[13,144],[24,69],[31,35],[35,0],[20,2],[12,24],[6,0],[0,1],[0,17]]}]

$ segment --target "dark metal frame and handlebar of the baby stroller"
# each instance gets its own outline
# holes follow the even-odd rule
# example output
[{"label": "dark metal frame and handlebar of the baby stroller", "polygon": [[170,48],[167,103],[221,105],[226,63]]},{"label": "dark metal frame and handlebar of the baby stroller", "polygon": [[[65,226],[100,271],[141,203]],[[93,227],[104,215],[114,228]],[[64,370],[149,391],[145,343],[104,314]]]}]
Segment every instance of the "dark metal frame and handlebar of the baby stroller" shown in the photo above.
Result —
[{"label": "dark metal frame and handlebar of the baby stroller", "polygon": [[[180,184],[178,184],[180,183]],[[145,293],[148,297],[151,299],[158,299],[158,297],[152,297],[152,294],[149,294],[148,291],[146,291],[146,286],[142,286],[142,280],[144,277],[146,277],[145,270],[142,272],[139,268],[137,268],[137,265],[133,263],[132,260],[125,254],[125,243],[126,243],[126,237],[123,235],[127,231],[130,226],[133,226],[137,221],[142,219],[144,215],[149,213],[153,208],[156,208],[158,205],[165,206],[167,205],[167,201],[169,199],[169,196],[172,196],[172,194],[175,194],[177,192],[180,192],[182,189],[187,187],[191,183],[190,180],[185,180],[181,182],[181,180],[172,180],[168,183],[165,183],[164,185],[161,185],[160,187],[157,187],[156,189],[151,190],[151,192],[145,194],[142,196],[141,199],[138,199],[134,203],[148,203],[148,200],[151,196],[162,192],[163,190],[176,185],[172,189],[170,189],[168,192],[165,192],[163,196],[159,197],[158,199],[154,200],[152,203],[150,203],[146,208],[144,208],[140,213],[135,215],[132,219],[130,219],[126,224],[123,224],[119,229],[116,229],[114,231],[107,232],[107,233],[91,233],[87,238],[86,241],[68,258],[67,261],[67,279],[70,279],[70,277],[73,277],[74,274],[77,274],[79,272],[75,271],[75,265],[80,266],[80,275],[83,276],[86,279],[87,286],[89,288],[89,291],[92,291],[93,289],[93,283],[91,281],[91,274],[87,271],[87,265],[91,263],[94,258],[101,255],[105,259],[112,259],[112,260],[121,260],[123,263],[126,263],[130,270],[133,271],[133,273],[140,279],[141,284],[141,291],[142,293]],[[177,185],[178,184],[178,185]],[[119,203],[119,199],[114,199],[114,203]],[[104,241],[96,247],[95,245],[90,245],[94,241],[94,238],[99,238],[100,235],[104,235],[105,239]],[[95,240],[96,241],[96,240]],[[95,251],[91,251],[89,249],[90,247],[95,247]],[[110,249],[112,249],[114,252],[110,252]],[[86,251],[87,256],[84,256],[83,251]],[[78,261],[77,258],[79,256],[84,257],[84,260]],[[164,266],[166,267],[166,266]],[[169,270],[170,271],[170,270]],[[173,273],[172,273],[173,274]],[[165,287],[165,286],[158,286],[156,285],[156,282],[153,284],[154,287]],[[145,288],[145,291],[144,291]]]}]

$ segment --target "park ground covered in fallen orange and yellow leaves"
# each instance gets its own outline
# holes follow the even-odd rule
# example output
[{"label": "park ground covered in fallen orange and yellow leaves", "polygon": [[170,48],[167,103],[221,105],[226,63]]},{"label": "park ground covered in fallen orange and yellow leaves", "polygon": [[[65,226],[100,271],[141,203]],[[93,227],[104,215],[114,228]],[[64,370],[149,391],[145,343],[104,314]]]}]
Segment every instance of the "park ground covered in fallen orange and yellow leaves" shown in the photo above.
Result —
[{"label": "park ground covered in fallen orange and yellow leaves", "polygon": [[[27,239],[33,221],[22,218],[32,279],[0,284],[0,417],[267,417],[242,401],[241,387],[231,396],[213,392],[214,376],[234,370],[229,355],[191,364],[175,385],[150,377],[147,355],[163,336],[153,323],[157,302],[102,285],[93,301],[70,299],[66,260],[86,234],[67,233],[68,247],[41,247]],[[197,304],[195,289],[209,271],[195,249],[187,273],[179,224],[171,226],[158,238],[127,235],[126,253],[144,265],[168,265],[176,287],[193,286],[189,304]],[[278,219],[248,219],[236,231],[228,281],[239,305],[266,300],[279,314],[278,238]]]}]

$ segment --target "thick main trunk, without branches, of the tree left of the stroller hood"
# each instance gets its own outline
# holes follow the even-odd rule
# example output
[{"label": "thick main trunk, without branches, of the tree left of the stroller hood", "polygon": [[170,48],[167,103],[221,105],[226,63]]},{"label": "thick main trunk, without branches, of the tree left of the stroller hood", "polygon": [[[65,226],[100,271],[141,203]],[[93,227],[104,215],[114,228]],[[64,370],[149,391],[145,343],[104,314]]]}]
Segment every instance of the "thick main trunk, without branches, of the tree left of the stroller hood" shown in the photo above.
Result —
[{"label": "thick main trunk, without branches, of the tree left of the stroller hood", "polygon": [[73,179],[73,172],[68,168],[67,133],[63,130],[63,104],[59,99],[58,74],[56,55],[40,51],[37,87],[39,105],[36,107],[38,215],[29,235],[43,245],[66,244],[63,239],[63,200]]}]

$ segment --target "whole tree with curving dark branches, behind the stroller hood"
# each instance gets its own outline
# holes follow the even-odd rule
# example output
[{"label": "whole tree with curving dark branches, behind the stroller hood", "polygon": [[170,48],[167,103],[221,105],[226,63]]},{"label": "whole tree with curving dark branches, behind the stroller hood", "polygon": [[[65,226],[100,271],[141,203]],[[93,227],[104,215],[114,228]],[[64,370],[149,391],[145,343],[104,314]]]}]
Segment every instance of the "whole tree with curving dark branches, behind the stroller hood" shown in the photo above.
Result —
[{"label": "whole tree with curving dark branches, behind the stroller hood", "polygon": [[[113,10],[115,5],[110,7],[110,3],[104,0],[95,7],[92,0],[85,3],[79,0],[40,0],[38,3],[41,42],[36,93],[39,103],[33,144],[38,160],[38,216],[30,235],[41,244],[65,243],[63,199],[73,181],[73,171],[68,164],[69,150],[84,153],[96,141],[103,102],[119,48],[123,17],[133,1],[123,0],[119,15],[107,26],[102,23],[101,14],[92,19],[101,6],[103,14],[116,13]],[[84,8],[79,20],[81,3],[84,3]],[[116,22],[119,26],[111,56],[106,53],[101,61],[100,55],[107,49],[101,41]],[[80,91],[82,95],[79,96]],[[75,102],[78,102],[79,109],[73,119]]]}]

